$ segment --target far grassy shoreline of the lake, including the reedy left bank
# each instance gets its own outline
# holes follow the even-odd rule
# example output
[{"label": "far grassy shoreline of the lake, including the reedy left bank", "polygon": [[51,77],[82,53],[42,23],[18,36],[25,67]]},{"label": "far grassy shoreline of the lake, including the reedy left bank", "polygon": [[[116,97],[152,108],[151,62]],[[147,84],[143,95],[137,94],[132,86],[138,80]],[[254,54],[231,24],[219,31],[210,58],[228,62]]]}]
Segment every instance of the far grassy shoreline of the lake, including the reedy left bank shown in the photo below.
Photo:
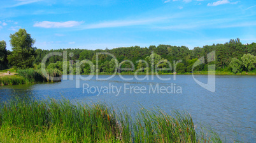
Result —
[{"label": "far grassy shoreline of the lake, including the reedy left bank", "polygon": [[[8,74],[7,71],[10,71],[11,74]],[[46,69],[46,71],[52,77],[60,77],[61,71]],[[95,75],[96,73],[94,73]],[[99,75],[113,75],[113,73],[98,73]],[[120,75],[135,75],[135,72],[123,72],[117,73]],[[137,75],[146,75],[144,72],[136,73]],[[156,75],[155,73],[149,72],[150,75]],[[231,71],[194,71],[194,73],[158,73],[159,75],[256,75],[256,71],[250,72],[241,72],[241,73],[232,73]],[[83,74],[87,75],[87,74]],[[57,80],[60,82],[61,78]],[[45,78],[41,73],[41,70],[15,70],[14,68],[1,70],[0,71],[0,85],[20,85],[20,84],[36,84],[39,82],[53,82],[52,79]]]}]

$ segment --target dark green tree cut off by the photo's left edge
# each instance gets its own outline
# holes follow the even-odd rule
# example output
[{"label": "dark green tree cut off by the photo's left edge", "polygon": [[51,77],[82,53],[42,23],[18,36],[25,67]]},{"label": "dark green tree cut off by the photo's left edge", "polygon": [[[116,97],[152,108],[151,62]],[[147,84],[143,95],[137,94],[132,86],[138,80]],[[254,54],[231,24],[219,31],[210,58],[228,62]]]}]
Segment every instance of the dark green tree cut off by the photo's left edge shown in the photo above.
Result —
[{"label": "dark green tree cut off by the photo's left edge", "polygon": [[7,68],[7,50],[6,50],[6,42],[4,40],[0,41],[0,70]]}]

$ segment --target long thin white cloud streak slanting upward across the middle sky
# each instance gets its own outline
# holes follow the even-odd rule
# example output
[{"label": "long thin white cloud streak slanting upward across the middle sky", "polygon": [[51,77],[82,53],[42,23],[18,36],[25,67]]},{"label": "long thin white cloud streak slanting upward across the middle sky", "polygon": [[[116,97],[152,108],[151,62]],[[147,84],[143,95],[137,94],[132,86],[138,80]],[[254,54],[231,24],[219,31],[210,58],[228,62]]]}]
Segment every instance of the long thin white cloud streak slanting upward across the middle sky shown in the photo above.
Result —
[{"label": "long thin white cloud streak slanting upward across the middle sky", "polygon": [[127,26],[134,26],[134,25],[148,25],[148,24],[155,23],[155,22],[161,22],[161,21],[167,20],[169,18],[171,18],[171,17],[149,18],[149,19],[145,19],[145,20],[117,20],[117,21],[111,21],[111,22],[102,22],[102,23],[84,25],[83,29],[127,27]]}]

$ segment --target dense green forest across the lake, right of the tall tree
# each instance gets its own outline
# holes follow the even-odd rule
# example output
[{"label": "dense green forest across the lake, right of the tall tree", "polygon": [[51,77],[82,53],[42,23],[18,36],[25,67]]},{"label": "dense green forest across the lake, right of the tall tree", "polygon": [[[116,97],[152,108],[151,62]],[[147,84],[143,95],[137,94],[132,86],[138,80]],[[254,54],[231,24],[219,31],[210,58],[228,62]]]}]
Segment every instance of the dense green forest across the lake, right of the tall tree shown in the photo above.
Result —
[{"label": "dense green forest across the lake, right of the tall tree", "polygon": [[[197,59],[204,58],[204,63],[194,67],[194,71],[208,71],[208,65],[216,65],[217,71],[233,71],[238,73],[241,71],[252,71],[255,69],[255,56],[256,55],[256,43],[241,44],[239,39],[230,40],[225,44],[213,44],[211,46],[195,47],[190,50],[185,46],[170,46],[159,45],[150,47],[118,47],[115,49],[56,49],[56,50],[42,50],[36,49],[36,59],[34,61],[35,68],[41,68],[41,61],[48,53],[67,52],[68,73],[90,73],[91,71],[99,71],[103,73],[113,73],[116,69],[122,72],[128,72],[128,70],[122,70],[122,68],[132,68],[131,63],[125,60],[129,60],[134,64],[134,69],[131,71],[146,72],[155,71],[156,66],[159,68],[159,72],[174,72],[174,68],[178,73],[192,72],[194,63]],[[215,61],[208,61],[207,54],[215,51]],[[153,53],[152,53],[153,52]],[[73,53],[73,54],[70,54]],[[119,65],[115,65],[115,59],[107,54],[99,54],[98,68],[96,68],[96,53],[110,53],[117,58]],[[153,57],[153,61],[152,61]],[[236,60],[234,59],[236,58]],[[94,66],[90,66],[89,63],[84,63],[80,66],[80,71],[76,71],[76,62],[88,59],[92,61]],[[79,61],[78,61],[79,60]],[[48,58],[46,67],[57,68],[63,70],[63,57],[62,56],[50,56]],[[145,62],[146,61],[146,62]],[[232,61],[232,62],[231,62]],[[239,62],[241,61],[241,62]],[[153,64],[152,64],[153,63]],[[148,65],[148,69],[146,68]],[[120,66],[120,68],[119,68]],[[153,66],[153,67],[152,67]],[[171,69],[170,69],[171,68]],[[70,70],[70,71],[69,71]]]}]

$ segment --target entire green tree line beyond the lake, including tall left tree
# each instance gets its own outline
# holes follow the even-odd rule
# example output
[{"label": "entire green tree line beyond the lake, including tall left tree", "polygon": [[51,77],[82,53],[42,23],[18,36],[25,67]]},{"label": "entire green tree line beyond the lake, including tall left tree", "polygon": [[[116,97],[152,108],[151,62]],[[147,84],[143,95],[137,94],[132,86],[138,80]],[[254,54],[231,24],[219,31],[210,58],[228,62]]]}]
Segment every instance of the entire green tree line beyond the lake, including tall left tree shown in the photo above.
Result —
[{"label": "entire green tree line beyond the lake, including tall left tree", "polygon": [[[4,69],[8,66],[15,68],[41,68],[41,61],[46,54],[58,52],[68,53],[68,61],[64,64],[62,56],[50,56],[46,61],[46,68],[57,68],[63,70],[63,65],[66,65],[68,72],[71,73],[90,73],[91,71],[99,71],[102,73],[113,73],[116,69],[134,68],[132,71],[139,70],[140,72],[152,71],[156,68],[159,72],[174,72],[178,73],[192,72],[194,63],[197,59],[204,57],[204,63],[194,67],[197,71],[208,71],[209,65],[215,64],[217,71],[232,71],[239,73],[242,71],[255,71],[256,64],[256,43],[242,44],[239,39],[231,39],[225,44],[213,44],[211,46],[194,47],[188,49],[186,46],[171,46],[162,45],[149,47],[117,47],[114,49],[52,49],[44,50],[33,47],[35,42],[30,34],[27,34],[25,29],[20,29],[15,34],[10,35],[10,44],[12,51],[6,50],[6,42],[0,42],[0,68]],[[208,61],[207,54],[215,51],[215,60]],[[98,68],[96,69],[96,53],[99,54]],[[76,71],[76,62],[88,59],[92,61],[94,66],[88,63],[80,66],[80,71]],[[115,62],[120,64],[120,67],[115,65]],[[128,61],[131,61],[132,64]],[[153,60],[153,61],[152,61]],[[154,65],[152,65],[154,63]],[[152,67],[153,66],[153,67]],[[156,67],[157,66],[157,67]],[[129,72],[132,72],[129,71]],[[120,72],[127,72],[120,70]]]}]

